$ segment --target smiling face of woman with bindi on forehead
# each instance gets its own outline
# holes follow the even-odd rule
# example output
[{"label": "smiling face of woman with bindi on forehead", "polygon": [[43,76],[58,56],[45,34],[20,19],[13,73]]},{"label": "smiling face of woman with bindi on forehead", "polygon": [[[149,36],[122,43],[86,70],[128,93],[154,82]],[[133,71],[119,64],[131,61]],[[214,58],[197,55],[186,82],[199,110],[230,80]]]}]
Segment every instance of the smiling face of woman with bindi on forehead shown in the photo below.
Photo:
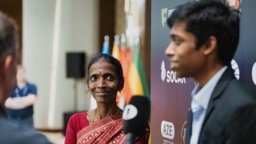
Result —
[{"label": "smiling face of woman with bindi on forehead", "polygon": [[115,101],[118,91],[118,79],[115,66],[106,61],[97,61],[89,69],[88,87],[96,102]]}]

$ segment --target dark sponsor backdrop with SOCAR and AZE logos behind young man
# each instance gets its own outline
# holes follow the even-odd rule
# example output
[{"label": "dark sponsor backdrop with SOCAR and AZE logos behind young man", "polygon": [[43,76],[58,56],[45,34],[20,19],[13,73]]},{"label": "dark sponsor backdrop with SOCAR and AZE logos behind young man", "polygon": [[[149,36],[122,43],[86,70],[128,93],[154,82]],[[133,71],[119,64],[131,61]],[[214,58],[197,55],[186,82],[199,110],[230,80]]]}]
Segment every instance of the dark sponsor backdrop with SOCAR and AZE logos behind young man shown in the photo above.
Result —
[{"label": "dark sponsor backdrop with SOCAR and AZE logos behind young man", "polygon": [[[170,42],[167,18],[177,5],[193,0],[152,0],[151,18],[151,131],[152,143],[184,143],[190,94],[195,87],[191,78],[178,78],[170,69],[164,50]],[[229,0],[242,11],[241,38],[232,68],[236,78],[256,89],[256,1]]]}]

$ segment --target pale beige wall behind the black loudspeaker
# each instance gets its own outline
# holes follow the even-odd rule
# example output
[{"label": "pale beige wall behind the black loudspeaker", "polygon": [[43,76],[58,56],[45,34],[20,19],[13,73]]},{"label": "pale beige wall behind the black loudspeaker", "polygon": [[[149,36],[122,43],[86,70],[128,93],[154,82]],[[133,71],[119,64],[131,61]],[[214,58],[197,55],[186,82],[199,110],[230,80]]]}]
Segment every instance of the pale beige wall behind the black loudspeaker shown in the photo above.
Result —
[{"label": "pale beige wall behind the black loudspeaker", "polygon": [[[89,59],[98,52],[98,0],[59,1],[59,25],[57,1],[23,1],[23,64],[29,81],[38,87],[38,129],[62,129],[63,112],[74,110],[74,80],[65,77],[66,52],[84,51]],[[88,109],[84,79],[78,82],[77,95],[78,110]]]}]

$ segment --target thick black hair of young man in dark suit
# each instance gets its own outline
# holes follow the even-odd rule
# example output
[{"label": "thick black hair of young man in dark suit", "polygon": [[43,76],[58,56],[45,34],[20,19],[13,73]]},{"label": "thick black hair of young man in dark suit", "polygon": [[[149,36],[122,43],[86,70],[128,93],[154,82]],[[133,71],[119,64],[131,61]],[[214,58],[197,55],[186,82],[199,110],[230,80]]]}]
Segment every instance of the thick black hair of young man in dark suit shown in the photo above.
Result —
[{"label": "thick black hair of young man in dark suit", "polygon": [[196,38],[196,48],[210,36],[217,40],[218,57],[222,65],[229,65],[239,40],[240,14],[222,1],[201,0],[180,5],[168,18],[172,28],[176,22],[186,22],[187,32]]}]

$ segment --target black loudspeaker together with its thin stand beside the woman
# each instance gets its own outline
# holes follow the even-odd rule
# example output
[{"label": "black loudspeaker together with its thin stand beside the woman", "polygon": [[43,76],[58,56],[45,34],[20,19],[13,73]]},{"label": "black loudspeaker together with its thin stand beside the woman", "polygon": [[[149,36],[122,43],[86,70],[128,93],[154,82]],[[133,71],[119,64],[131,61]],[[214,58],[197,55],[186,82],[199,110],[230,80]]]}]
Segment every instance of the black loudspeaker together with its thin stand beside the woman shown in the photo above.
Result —
[{"label": "black loudspeaker together with its thin stand beside the woman", "polygon": [[64,119],[64,127],[63,134],[66,134],[67,130],[67,122],[69,118],[77,113],[77,82],[79,79],[84,78],[86,76],[86,53],[85,52],[67,52],[66,54],[66,76],[67,78],[73,78],[74,84],[74,111],[73,112],[65,112]]}]

